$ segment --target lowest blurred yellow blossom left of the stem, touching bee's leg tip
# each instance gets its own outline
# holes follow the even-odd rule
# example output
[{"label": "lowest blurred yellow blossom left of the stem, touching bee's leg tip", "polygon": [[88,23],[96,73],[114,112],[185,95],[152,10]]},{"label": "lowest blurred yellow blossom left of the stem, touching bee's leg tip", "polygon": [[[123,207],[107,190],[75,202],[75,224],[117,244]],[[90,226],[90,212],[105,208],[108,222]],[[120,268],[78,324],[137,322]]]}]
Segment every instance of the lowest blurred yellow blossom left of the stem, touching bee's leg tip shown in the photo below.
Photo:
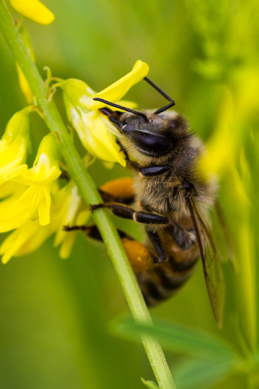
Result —
[{"label": "lowest blurred yellow blossom left of the stem, touching bee's leg tip", "polygon": [[1,244],[0,255],[6,263],[12,256],[20,256],[35,251],[48,237],[56,232],[54,246],[61,244],[60,256],[67,258],[75,240],[75,231],[63,231],[64,225],[82,225],[90,216],[77,187],[70,182],[59,189],[56,181],[52,186],[51,218],[48,225],[40,225],[39,220],[27,220],[12,232]]}]

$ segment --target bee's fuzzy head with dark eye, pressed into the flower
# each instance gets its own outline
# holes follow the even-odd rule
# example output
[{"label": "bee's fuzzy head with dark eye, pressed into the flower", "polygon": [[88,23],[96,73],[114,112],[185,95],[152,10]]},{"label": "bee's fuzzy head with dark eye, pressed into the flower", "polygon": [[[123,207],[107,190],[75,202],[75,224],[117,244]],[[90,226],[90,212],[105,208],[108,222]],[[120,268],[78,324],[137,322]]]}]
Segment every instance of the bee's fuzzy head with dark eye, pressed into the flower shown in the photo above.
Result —
[{"label": "bee's fuzzy head with dark eye, pressed into the flower", "polygon": [[[94,99],[103,102],[102,99]],[[118,104],[110,105],[127,112],[101,109],[109,120],[119,129],[121,148],[130,157],[145,162],[161,162],[172,155],[179,141],[188,136],[188,123],[174,111],[138,112]],[[159,161],[157,160],[159,159]]]}]

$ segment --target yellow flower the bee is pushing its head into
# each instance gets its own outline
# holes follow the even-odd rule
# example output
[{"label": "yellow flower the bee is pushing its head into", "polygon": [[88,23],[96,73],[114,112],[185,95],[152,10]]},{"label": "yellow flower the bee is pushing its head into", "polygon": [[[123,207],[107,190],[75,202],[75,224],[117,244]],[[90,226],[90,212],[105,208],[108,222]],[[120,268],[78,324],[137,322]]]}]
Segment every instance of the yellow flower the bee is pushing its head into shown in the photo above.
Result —
[{"label": "yellow flower the bee is pushing its head into", "polygon": [[58,84],[63,89],[64,102],[70,122],[78,133],[86,150],[106,162],[119,162],[125,166],[124,154],[116,142],[118,130],[99,111],[105,104],[92,100],[101,97],[118,102],[148,73],[149,67],[137,61],[132,71],[103,91],[95,93],[83,81],[69,79]]}]

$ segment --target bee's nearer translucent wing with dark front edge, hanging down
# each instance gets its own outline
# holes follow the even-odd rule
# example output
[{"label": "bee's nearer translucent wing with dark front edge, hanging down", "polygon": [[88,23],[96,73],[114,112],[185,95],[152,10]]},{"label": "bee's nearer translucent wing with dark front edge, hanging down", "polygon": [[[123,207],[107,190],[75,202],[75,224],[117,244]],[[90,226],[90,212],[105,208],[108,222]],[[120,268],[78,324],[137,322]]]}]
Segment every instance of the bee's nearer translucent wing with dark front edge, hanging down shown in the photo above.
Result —
[{"label": "bee's nearer translucent wing with dark front edge, hanging down", "polygon": [[197,236],[210,304],[217,325],[221,328],[225,294],[222,263],[207,223],[200,216],[190,197],[186,199],[186,203]]}]

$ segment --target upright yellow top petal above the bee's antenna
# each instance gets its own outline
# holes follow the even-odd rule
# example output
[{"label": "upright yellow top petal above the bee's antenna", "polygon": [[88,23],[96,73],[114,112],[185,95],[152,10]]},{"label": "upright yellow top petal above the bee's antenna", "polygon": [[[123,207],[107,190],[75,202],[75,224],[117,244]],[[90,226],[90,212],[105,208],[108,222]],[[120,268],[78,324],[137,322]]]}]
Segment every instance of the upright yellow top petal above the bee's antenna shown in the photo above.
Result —
[{"label": "upright yellow top petal above the bee's antenna", "polygon": [[[149,66],[145,62],[138,60],[128,74],[101,92],[96,93],[92,98],[99,97],[107,101],[117,102],[121,100],[133,85],[142,80],[148,74],[148,71]],[[92,98],[84,96],[80,102],[89,109],[99,109],[105,106],[104,103],[94,101]]]}]

